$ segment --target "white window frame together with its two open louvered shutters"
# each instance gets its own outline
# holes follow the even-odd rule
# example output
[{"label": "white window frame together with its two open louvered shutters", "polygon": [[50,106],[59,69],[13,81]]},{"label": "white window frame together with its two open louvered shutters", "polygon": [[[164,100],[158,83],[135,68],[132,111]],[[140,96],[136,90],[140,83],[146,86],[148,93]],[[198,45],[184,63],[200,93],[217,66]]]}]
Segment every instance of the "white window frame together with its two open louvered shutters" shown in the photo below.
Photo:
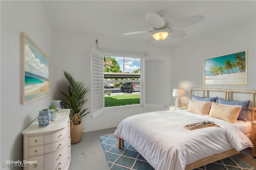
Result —
[{"label": "white window frame together with its two open louvered shutters", "polygon": [[[170,69],[167,66],[167,63],[170,62],[169,58],[166,58],[166,56],[162,57],[162,56],[155,56],[155,57],[148,57],[146,55],[146,53],[139,53],[139,52],[124,52],[124,51],[120,51],[119,54],[118,53],[110,53],[110,52],[102,52],[103,50],[98,50],[95,49],[93,47],[91,47],[91,61],[93,61],[94,59],[94,55],[96,54],[96,56],[98,57],[98,59],[100,59],[100,62],[96,61],[96,63],[100,63],[100,70],[98,71],[96,70],[95,75],[98,76],[98,74],[100,74],[100,76],[102,78],[94,78],[94,71],[97,68],[94,68],[93,63],[91,64],[91,69],[92,69],[92,118],[104,113],[104,112],[108,112],[108,111],[114,111],[114,110],[124,110],[124,109],[134,109],[134,108],[141,108],[141,107],[167,107],[166,102],[168,102],[168,94],[170,93],[170,89],[167,88],[166,83],[169,83],[168,81],[166,82],[166,72],[169,72]],[[106,50],[107,51],[107,50]],[[96,53],[97,52],[97,53]],[[120,53],[123,53],[124,55],[120,55]],[[126,57],[126,55],[128,57],[134,57],[134,58],[140,58],[140,104],[136,104],[136,105],[127,105],[127,106],[114,106],[114,107],[105,107],[105,101],[104,101],[104,82],[110,81],[110,82],[138,82],[138,80],[105,80],[104,81],[104,55],[108,55],[108,56],[118,56],[118,57]],[[98,60],[96,59],[96,60]],[[148,61],[151,61],[151,65],[147,64]],[[158,65],[158,62],[163,62],[161,65]],[[98,65],[96,65],[97,67]],[[160,67],[159,67],[160,66]],[[102,68],[102,69],[101,69]],[[160,69],[161,68],[161,69]],[[153,70],[157,70],[157,74],[155,74],[156,72],[152,72],[152,74],[150,72],[145,72],[147,69],[150,69],[150,72],[152,72],[151,69]],[[162,70],[162,71],[159,71]],[[146,73],[146,74],[145,74]],[[153,75],[153,76],[152,76]],[[159,75],[159,76],[158,76]],[[161,78],[160,78],[161,77]],[[159,79],[160,78],[160,79]],[[156,81],[160,82],[159,80],[162,81],[163,86],[162,88],[154,88],[152,89],[152,87],[150,86],[151,84],[155,84]],[[101,98],[97,98],[96,100],[95,98],[95,93],[94,90],[96,90],[96,92],[101,91],[102,93],[98,96],[101,96]],[[97,91],[98,90],[98,91]],[[147,95],[146,95],[147,94]],[[149,94],[150,98],[146,98]],[[161,101],[159,100],[161,99]],[[162,100],[163,99],[163,100]],[[150,102],[147,102],[150,101]],[[102,105],[98,106],[97,102],[100,101],[102,103]],[[95,103],[94,103],[95,102]],[[98,106],[98,107],[97,107]],[[103,107],[102,107],[103,106]],[[94,107],[96,109],[94,109]],[[99,109],[100,107],[100,109]],[[99,111],[99,110],[100,111]],[[97,113],[94,113],[97,112]]]}]

